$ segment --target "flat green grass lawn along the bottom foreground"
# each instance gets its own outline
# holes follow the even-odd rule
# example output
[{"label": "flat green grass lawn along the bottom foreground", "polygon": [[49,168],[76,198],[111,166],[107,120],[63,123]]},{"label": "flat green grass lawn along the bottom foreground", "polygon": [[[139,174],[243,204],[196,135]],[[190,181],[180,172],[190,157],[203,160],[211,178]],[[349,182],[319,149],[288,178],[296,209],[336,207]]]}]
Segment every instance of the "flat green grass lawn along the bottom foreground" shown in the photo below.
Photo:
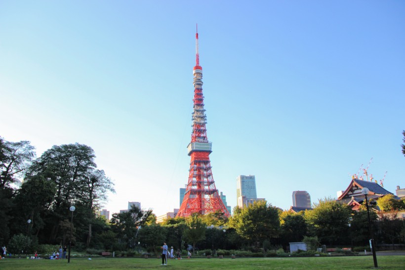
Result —
[{"label": "flat green grass lawn along the bottom foreground", "polygon": [[[405,256],[377,256],[378,269],[405,269]],[[373,269],[372,256],[314,257],[314,258],[193,258],[169,260],[149,258],[72,258],[67,260],[0,260],[0,269],[58,270],[58,269],[172,269],[172,270],[216,270],[216,269]]]}]

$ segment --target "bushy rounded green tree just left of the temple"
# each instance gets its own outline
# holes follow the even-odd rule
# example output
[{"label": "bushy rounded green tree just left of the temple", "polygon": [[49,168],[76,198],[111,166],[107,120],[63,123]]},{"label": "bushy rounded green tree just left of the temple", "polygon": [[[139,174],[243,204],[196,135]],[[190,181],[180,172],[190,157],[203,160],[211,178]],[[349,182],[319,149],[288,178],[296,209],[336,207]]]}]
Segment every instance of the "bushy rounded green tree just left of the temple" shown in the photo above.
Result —
[{"label": "bushy rounded green tree just left of the temple", "polygon": [[350,207],[331,198],[320,199],[314,206],[313,210],[305,211],[305,220],[311,234],[318,236],[321,243],[347,243],[352,214]]}]

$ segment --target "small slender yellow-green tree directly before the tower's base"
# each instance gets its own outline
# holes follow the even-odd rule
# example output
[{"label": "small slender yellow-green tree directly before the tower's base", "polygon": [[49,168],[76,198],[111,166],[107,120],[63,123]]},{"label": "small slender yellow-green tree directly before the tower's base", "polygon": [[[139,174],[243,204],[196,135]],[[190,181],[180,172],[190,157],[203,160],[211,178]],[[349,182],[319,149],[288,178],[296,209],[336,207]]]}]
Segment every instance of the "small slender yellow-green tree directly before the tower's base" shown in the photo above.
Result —
[{"label": "small slender yellow-green tree directly before the tower's base", "polygon": [[186,229],[183,232],[184,238],[193,244],[193,253],[196,244],[205,239],[206,224],[203,222],[202,217],[198,213],[193,213],[186,218]]}]

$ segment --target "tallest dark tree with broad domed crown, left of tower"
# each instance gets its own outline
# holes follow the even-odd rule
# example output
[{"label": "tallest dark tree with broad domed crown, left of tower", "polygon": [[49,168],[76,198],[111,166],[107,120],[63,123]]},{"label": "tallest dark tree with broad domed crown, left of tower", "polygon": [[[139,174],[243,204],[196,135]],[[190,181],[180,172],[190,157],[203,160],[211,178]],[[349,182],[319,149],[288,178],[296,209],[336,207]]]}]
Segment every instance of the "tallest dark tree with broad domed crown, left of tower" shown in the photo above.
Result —
[{"label": "tallest dark tree with broad domed crown, left of tower", "polygon": [[41,176],[56,186],[54,200],[45,229],[48,243],[63,239],[66,229],[59,231],[61,222],[70,217],[69,207],[76,206],[76,228],[86,242],[91,240],[91,224],[99,204],[107,191],[114,191],[111,180],[103,171],[96,170],[95,154],[84,144],[54,145],[46,150],[30,167],[27,177]]}]

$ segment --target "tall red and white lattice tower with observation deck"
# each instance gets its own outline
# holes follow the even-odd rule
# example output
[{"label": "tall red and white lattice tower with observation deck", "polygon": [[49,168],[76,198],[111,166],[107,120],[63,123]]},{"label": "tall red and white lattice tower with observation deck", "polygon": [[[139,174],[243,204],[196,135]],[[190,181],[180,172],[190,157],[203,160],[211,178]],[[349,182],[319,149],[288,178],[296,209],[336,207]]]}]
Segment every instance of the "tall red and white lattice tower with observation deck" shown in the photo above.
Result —
[{"label": "tall red and white lattice tower with observation deck", "polygon": [[226,209],[212,177],[209,154],[212,143],[208,141],[205,124],[204,96],[202,95],[202,67],[198,50],[198,31],[196,33],[196,66],[194,75],[194,112],[192,113],[193,133],[187,146],[191,156],[189,180],[183,202],[176,217],[187,217],[193,213],[208,214],[221,211],[225,216],[230,214]]}]

